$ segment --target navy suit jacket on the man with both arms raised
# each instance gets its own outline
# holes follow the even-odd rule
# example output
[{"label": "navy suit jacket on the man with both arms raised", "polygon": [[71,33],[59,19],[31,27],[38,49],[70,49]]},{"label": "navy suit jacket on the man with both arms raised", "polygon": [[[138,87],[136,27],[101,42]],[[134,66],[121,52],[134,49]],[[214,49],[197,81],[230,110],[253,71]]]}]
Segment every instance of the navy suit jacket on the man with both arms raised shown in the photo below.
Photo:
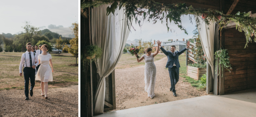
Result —
[{"label": "navy suit jacket on the man with both arms raised", "polygon": [[172,68],[173,64],[176,64],[177,68],[180,68],[180,62],[179,62],[179,56],[185,51],[187,50],[187,48],[183,48],[182,50],[180,50],[179,52],[176,51],[175,56],[172,55],[172,53],[168,50],[166,51],[163,47],[160,48],[162,50],[162,52],[167,56],[168,60],[166,63],[166,68]]}]

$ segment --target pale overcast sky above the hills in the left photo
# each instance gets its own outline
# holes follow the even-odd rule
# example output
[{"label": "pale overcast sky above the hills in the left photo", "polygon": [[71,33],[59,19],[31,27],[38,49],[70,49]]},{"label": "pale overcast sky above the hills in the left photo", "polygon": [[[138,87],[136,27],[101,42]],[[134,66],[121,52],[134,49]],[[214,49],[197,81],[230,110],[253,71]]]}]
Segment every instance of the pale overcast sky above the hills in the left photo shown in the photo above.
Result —
[{"label": "pale overcast sky above the hills in the left photo", "polygon": [[37,28],[71,27],[78,23],[78,0],[1,0],[0,34],[24,31],[25,21]]}]

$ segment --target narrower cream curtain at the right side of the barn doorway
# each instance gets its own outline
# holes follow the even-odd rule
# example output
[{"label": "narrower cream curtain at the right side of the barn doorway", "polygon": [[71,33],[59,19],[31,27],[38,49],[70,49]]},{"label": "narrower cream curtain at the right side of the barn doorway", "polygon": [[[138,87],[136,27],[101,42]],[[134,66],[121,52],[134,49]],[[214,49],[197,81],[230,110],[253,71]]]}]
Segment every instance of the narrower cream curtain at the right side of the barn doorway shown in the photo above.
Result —
[{"label": "narrower cream curtain at the right side of the barn doorway", "polygon": [[205,57],[210,64],[212,74],[214,74],[214,33],[215,33],[215,21],[210,21],[210,24],[207,25],[201,16],[197,17],[199,23],[197,24],[197,29],[199,32],[199,37],[203,47]]}]

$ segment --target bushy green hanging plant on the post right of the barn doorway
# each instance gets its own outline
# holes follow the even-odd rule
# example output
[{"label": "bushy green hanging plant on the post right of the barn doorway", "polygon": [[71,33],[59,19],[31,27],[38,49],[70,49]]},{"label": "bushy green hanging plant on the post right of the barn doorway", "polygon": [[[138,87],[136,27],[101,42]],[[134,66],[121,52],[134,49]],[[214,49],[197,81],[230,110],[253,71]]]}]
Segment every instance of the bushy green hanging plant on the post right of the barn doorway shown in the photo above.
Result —
[{"label": "bushy green hanging plant on the post right of the barn doorway", "polygon": [[[216,51],[214,55],[215,55],[215,59],[216,59],[216,70],[215,70],[216,74],[218,73],[217,67],[219,67],[219,74],[220,74],[220,70],[221,70],[220,68],[222,68],[222,70],[223,70],[223,68],[226,68],[230,72],[230,69],[232,69],[232,68],[231,68],[231,64],[229,61],[228,50],[220,48],[220,50]],[[218,64],[218,62],[219,62],[219,64]],[[222,74],[222,76],[223,76],[223,74]]]}]

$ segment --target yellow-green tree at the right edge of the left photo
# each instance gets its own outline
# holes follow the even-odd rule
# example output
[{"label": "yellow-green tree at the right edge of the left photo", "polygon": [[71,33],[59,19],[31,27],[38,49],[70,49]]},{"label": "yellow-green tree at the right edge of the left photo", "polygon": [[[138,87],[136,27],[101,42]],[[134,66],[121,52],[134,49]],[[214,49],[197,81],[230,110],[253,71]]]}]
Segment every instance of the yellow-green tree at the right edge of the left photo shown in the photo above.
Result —
[{"label": "yellow-green tree at the right edge of the left photo", "polygon": [[74,57],[76,57],[76,64],[77,64],[77,58],[78,58],[78,23],[72,24],[74,28],[72,28],[72,31],[74,32],[75,38],[69,41],[70,47],[65,45],[63,49],[68,51],[68,53],[72,54]]}]

